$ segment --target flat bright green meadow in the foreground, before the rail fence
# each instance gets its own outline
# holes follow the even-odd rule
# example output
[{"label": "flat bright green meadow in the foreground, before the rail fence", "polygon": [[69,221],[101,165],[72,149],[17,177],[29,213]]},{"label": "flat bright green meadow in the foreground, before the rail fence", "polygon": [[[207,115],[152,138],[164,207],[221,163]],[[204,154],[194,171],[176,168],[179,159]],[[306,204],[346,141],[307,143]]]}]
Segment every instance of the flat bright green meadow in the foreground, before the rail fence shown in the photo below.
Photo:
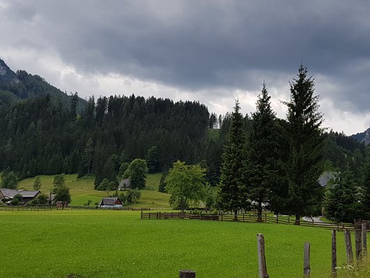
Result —
[{"label": "flat bright green meadow in the foreground, before the rail fence", "polygon": [[[256,234],[264,233],[270,277],[302,277],[311,242],[311,277],[330,276],[330,231],[278,224],[141,220],[139,212],[0,211],[3,277],[257,277]],[[338,235],[339,265],[345,261]]]}]

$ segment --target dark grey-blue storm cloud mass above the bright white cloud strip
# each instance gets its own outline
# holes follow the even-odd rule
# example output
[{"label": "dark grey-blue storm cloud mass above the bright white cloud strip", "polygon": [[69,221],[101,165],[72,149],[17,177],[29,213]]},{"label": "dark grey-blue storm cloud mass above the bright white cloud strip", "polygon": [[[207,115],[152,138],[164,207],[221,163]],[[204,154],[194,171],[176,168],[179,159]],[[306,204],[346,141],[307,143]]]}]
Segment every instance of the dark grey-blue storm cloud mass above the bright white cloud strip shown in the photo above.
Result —
[{"label": "dark grey-blue storm cloud mass above the bright white cloud strip", "polygon": [[369,14],[369,1],[335,0],[8,1],[4,11],[42,38],[14,43],[51,47],[84,72],[258,90],[303,61],[336,85],[321,96],[348,109],[370,101]]}]

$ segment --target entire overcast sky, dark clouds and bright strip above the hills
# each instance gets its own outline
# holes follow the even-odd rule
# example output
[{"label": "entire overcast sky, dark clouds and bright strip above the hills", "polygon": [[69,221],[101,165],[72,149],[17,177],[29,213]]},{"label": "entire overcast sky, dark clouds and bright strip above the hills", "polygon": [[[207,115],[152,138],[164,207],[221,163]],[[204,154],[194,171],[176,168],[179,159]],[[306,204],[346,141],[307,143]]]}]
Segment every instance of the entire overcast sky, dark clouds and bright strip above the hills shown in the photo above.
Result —
[{"label": "entire overcast sky, dark clouds and bright strip above the hills", "polygon": [[0,58],[62,91],[199,100],[285,118],[303,61],[324,126],[370,127],[370,1],[0,0]]}]

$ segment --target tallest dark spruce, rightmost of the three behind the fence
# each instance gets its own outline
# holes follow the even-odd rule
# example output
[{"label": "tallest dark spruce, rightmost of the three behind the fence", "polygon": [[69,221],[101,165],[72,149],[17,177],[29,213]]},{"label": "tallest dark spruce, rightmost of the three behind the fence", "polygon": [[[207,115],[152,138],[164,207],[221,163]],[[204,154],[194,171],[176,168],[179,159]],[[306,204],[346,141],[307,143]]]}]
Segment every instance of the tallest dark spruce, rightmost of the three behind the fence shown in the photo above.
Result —
[{"label": "tallest dark spruce, rightmost of the three behind the fence", "polygon": [[291,100],[288,107],[290,137],[287,176],[289,180],[289,208],[296,215],[312,214],[322,199],[318,179],[321,173],[321,123],[319,96],[314,95],[314,79],[307,77],[307,68],[300,65],[298,79],[290,84]]}]

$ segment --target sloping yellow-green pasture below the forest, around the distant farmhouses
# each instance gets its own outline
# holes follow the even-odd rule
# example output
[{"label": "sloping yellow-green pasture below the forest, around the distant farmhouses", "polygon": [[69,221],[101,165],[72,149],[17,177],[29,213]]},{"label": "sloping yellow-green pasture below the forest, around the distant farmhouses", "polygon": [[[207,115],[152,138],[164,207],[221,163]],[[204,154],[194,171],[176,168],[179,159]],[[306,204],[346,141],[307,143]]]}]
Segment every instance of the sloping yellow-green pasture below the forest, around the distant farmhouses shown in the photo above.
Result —
[{"label": "sloping yellow-green pasture below the forest, around the distant farmhouses", "polygon": [[[18,189],[33,190],[35,178],[26,178],[19,181]],[[138,208],[170,208],[168,200],[170,195],[158,192],[161,173],[147,175],[147,185],[145,190],[141,190],[141,198],[138,203],[130,205]],[[40,176],[42,183],[41,192],[49,194],[53,188],[54,176]],[[94,189],[94,177],[85,176],[77,179],[77,174],[65,175],[65,184],[70,188],[72,196],[71,206],[83,206],[88,200],[91,200],[91,206],[102,200],[102,197],[108,196],[106,192]],[[110,192],[113,194],[113,192]]]}]

